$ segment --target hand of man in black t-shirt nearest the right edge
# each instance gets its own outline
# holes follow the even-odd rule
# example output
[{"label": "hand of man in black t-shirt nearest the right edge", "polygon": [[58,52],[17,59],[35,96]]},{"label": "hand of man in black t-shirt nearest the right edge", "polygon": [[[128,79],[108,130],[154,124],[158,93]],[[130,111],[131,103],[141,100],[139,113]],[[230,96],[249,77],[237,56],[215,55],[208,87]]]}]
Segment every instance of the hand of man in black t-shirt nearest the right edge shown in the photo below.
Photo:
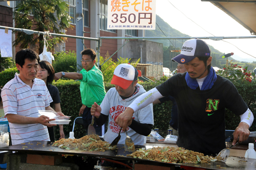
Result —
[{"label": "hand of man in black t-shirt nearest the right edge", "polygon": [[232,145],[236,144],[238,137],[239,137],[239,143],[241,143],[242,141],[245,141],[250,135],[250,131],[248,129],[249,129],[249,125],[244,122],[241,122],[233,133],[234,140],[232,142]]}]

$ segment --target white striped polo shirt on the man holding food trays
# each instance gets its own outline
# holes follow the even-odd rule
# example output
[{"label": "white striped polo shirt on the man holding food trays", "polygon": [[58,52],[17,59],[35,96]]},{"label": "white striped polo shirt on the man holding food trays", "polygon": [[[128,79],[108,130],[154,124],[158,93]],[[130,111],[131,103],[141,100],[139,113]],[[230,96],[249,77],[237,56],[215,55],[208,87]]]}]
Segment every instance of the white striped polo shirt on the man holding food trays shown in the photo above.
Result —
[{"label": "white striped polo shirt on the man holding food trays", "polygon": [[[38,110],[45,110],[52,102],[51,95],[43,80],[34,79],[32,88],[19,79],[18,74],[2,89],[5,115],[18,114],[39,117]],[[47,127],[41,124],[9,123],[12,144],[33,140],[50,141]]]}]

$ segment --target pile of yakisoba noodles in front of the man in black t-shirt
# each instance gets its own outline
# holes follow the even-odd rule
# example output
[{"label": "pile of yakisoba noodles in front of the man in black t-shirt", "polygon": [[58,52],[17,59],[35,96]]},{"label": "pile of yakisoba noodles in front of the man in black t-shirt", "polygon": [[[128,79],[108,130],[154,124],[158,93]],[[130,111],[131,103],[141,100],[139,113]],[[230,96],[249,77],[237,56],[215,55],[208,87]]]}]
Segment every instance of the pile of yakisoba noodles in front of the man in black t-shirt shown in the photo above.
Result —
[{"label": "pile of yakisoba noodles in front of the man in black t-shirt", "polygon": [[204,154],[199,152],[174,147],[157,147],[148,150],[140,149],[127,156],[167,163],[208,163],[217,160],[212,156],[204,156]]}]

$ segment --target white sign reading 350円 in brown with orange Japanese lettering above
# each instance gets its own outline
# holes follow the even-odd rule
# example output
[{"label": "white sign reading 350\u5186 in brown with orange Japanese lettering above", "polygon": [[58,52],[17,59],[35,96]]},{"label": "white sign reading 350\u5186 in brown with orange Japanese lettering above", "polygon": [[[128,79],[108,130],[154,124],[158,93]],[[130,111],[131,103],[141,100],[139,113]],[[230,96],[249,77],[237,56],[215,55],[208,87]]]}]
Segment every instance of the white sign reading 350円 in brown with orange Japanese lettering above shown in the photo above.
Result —
[{"label": "white sign reading 350\u5186 in brown with orange Japanese lettering above", "polygon": [[156,0],[109,0],[108,30],[155,30]]}]

